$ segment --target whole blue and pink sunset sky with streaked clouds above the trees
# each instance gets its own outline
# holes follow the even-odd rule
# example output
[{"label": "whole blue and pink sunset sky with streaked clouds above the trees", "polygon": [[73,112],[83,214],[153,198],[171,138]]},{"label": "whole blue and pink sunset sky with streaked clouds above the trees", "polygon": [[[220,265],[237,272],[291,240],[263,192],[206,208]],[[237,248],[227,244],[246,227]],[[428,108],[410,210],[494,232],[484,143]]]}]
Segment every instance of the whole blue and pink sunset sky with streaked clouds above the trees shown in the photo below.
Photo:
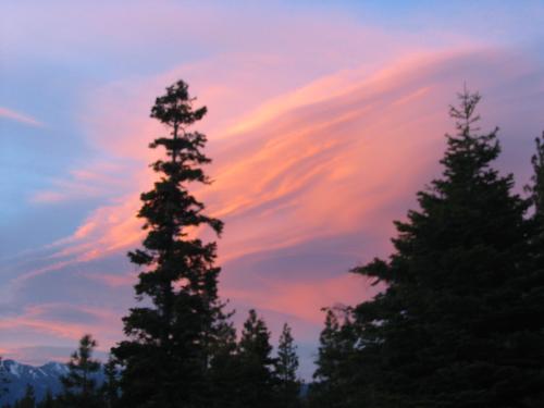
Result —
[{"label": "whole blue and pink sunset sky with streaked clouds above the trees", "polygon": [[321,309],[375,295],[349,270],[391,252],[440,175],[463,86],[522,191],[543,51],[544,1],[0,0],[0,355],[123,338],[149,111],[182,78],[209,110],[214,183],[191,188],[225,222],[221,296],[274,342],[288,322],[310,379]]}]

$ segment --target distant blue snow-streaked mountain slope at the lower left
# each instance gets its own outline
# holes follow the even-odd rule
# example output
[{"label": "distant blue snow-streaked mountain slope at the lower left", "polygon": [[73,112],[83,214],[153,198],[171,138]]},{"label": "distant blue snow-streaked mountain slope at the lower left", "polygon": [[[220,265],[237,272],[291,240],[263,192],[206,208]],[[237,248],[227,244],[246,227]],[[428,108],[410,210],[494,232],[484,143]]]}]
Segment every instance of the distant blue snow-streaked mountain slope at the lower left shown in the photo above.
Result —
[{"label": "distant blue snow-streaked mountain slope at the lower left", "polygon": [[[61,391],[61,376],[67,373],[66,364],[60,362],[48,362],[40,367],[22,364],[14,360],[2,360],[0,362],[0,374],[8,380],[5,385],[8,393],[0,397],[0,406],[3,404],[13,404],[20,399],[26,390],[26,385],[34,387],[36,397],[41,400],[48,390],[53,395]],[[100,373],[97,376],[99,383],[103,381]]]}]

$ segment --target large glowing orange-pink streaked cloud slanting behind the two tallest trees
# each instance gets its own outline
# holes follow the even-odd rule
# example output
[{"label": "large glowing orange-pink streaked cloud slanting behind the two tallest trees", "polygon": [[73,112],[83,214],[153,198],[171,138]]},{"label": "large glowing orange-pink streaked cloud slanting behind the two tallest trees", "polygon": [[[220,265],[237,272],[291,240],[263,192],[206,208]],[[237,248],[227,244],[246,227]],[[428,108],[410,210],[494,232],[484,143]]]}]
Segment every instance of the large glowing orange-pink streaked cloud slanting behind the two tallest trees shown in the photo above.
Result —
[{"label": "large glowing orange-pink streaked cloud slanting behind the two tallest trees", "polygon": [[[296,100],[286,103],[294,108],[279,108],[274,116],[270,107],[281,103],[267,102],[268,113],[259,119],[261,122],[250,124],[250,132],[212,139],[211,156],[217,163],[211,173],[215,183],[199,194],[215,215],[227,221],[221,244],[222,260],[262,248],[294,245],[310,236],[375,227],[380,223],[376,220],[382,220],[376,219],[381,209],[409,195],[419,185],[421,174],[436,163],[443,146],[441,135],[448,127],[445,108],[459,77],[459,72],[448,66],[457,64],[463,69],[468,64],[463,61],[487,64],[493,59],[503,66],[503,60],[508,60],[500,53],[481,53],[482,57],[455,51],[421,55],[419,60],[410,58],[358,84],[344,81],[345,89],[337,89],[331,97],[326,96],[327,87],[309,85],[306,89],[311,91],[286,96],[287,101]],[[465,71],[462,75],[473,76],[475,69]],[[449,79],[444,81],[444,75]],[[497,76],[508,75],[503,69]],[[354,74],[347,76],[351,78]],[[478,81],[490,83],[483,77]],[[326,82],[319,79],[318,84]],[[343,83],[336,77],[331,82]],[[112,118],[126,121],[125,127],[118,129],[119,148],[113,149],[119,154],[150,160],[144,139],[157,134],[157,126],[127,115],[132,111],[145,118],[144,108],[134,109],[143,102],[132,96],[128,103],[120,102],[113,99],[114,94],[106,92],[111,98],[107,110]],[[115,111],[115,106],[123,111]],[[422,111],[425,115],[418,116]],[[98,128],[113,126],[108,124],[108,116],[100,118],[106,119],[106,127]],[[102,146],[101,138],[109,134],[97,132],[97,146]],[[418,138],[407,137],[410,134],[418,134]],[[141,147],[123,148],[127,144],[123,135],[141,139]],[[103,146],[111,148],[106,139]],[[413,161],[422,150],[428,154]],[[399,169],[410,171],[399,173]],[[151,184],[152,175],[147,171],[135,175],[131,183],[138,190],[96,210],[72,237],[77,244],[61,255],[79,252],[83,255],[78,259],[85,260],[137,244],[141,237],[140,223],[134,219],[139,206],[137,191]],[[346,207],[346,202],[358,205]],[[252,223],[250,228],[248,220]],[[90,227],[94,233],[84,234]]]}]

